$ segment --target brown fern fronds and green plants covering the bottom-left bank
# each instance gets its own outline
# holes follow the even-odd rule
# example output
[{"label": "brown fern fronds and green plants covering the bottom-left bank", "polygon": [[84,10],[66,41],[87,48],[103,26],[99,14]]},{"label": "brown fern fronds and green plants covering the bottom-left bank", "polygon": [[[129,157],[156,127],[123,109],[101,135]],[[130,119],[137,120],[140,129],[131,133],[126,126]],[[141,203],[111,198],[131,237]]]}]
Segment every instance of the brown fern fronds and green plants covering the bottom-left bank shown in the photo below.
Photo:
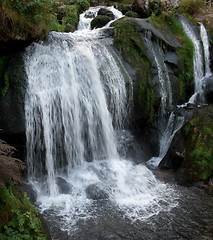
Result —
[{"label": "brown fern fronds and green plants covering the bottom-left bank", "polygon": [[[0,140],[0,239],[47,239],[38,211],[18,188],[24,163],[12,155],[16,149]],[[13,181],[13,182],[12,182]]]}]

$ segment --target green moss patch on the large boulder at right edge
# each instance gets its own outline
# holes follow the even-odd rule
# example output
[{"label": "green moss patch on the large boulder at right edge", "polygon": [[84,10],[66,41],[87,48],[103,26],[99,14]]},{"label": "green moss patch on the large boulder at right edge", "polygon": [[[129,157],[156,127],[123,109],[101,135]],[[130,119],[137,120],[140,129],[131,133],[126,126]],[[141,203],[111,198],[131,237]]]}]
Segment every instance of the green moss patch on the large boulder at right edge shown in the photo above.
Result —
[{"label": "green moss patch on the large boulder at right edge", "polygon": [[187,169],[187,180],[191,183],[208,180],[213,176],[213,119],[198,115],[183,128],[186,143],[182,167]]}]

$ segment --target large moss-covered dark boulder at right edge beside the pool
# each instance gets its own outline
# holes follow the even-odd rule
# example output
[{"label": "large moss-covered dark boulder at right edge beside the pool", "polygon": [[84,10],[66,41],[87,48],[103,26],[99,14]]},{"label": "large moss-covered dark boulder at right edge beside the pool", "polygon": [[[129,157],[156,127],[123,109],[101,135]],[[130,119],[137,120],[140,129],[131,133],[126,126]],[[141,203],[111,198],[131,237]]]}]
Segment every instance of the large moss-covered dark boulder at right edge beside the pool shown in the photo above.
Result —
[{"label": "large moss-covered dark boulder at right edge beside the pool", "polygon": [[162,159],[161,169],[177,170],[177,181],[192,184],[213,176],[213,105],[191,110]]}]

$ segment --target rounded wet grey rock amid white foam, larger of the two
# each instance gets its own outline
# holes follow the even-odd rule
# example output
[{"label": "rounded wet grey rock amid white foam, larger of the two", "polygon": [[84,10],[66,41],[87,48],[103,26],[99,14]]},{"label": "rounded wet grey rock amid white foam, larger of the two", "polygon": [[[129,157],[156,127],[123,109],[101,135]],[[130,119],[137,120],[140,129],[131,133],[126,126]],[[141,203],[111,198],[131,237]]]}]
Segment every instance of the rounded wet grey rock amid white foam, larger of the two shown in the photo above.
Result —
[{"label": "rounded wet grey rock amid white foam, larger of the two", "polygon": [[92,200],[108,199],[109,195],[103,189],[99,188],[95,184],[91,184],[86,188],[87,198]]}]

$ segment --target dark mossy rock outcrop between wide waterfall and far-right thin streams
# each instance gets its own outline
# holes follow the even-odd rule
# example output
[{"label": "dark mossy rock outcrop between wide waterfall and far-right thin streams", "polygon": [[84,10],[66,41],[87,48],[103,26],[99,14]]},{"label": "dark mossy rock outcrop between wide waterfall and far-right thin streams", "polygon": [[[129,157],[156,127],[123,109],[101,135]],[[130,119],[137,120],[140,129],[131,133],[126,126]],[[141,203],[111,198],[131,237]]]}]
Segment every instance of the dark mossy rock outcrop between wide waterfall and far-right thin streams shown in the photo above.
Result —
[{"label": "dark mossy rock outcrop between wide waterfall and far-right thin streams", "polygon": [[[133,69],[130,74],[134,81],[134,119],[138,131],[157,118],[162,102],[160,77],[170,78],[171,90],[167,95],[173,95],[173,105],[180,102],[180,63],[186,59],[178,50],[184,45],[169,28],[160,31],[148,19],[125,17],[112,26],[114,44]],[[159,71],[163,76],[159,76]]]}]

